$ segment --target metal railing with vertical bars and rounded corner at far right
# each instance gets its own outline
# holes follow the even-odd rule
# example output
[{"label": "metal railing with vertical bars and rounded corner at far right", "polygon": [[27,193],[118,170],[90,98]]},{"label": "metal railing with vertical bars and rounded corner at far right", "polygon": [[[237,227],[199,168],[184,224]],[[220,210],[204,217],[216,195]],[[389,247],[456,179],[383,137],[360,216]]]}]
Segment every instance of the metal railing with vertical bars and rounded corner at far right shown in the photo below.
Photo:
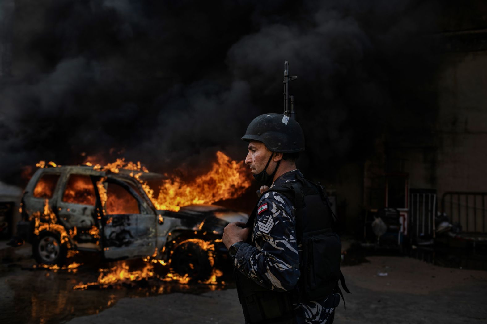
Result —
[{"label": "metal railing with vertical bars and rounded corner at far right", "polygon": [[441,198],[441,211],[464,233],[487,233],[486,197],[487,192],[446,192]]}]

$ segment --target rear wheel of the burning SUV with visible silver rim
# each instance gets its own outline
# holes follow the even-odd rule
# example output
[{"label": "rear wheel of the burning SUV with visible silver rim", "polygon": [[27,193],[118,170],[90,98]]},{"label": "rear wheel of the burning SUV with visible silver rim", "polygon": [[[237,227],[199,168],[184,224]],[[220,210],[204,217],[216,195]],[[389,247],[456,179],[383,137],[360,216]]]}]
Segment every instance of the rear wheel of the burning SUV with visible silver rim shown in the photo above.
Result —
[{"label": "rear wheel of the burning SUV with visible silver rim", "polygon": [[59,234],[45,231],[34,240],[32,254],[37,263],[63,265],[66,262],[68,247],[66,243],[61,244]]}]

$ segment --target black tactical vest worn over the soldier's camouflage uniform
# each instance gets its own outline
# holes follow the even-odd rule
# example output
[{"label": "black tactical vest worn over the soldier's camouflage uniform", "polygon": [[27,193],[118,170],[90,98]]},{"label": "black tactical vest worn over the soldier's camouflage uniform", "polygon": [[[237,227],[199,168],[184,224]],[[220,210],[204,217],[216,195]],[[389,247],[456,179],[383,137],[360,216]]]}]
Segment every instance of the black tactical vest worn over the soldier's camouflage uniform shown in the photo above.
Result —
[{"label": "black tactical vest worn over the soldier's camouflage uniform", "polygon": [[[340,271],[341,242],[335,232],[337,219],[326,190],[298,175],[297,181],[273,186],[269,191],[278,191],[295,203],[296,236],[298,244],[302,244],[298,284],[292,291],[272,291],[247,278],[238,269],[234,271],[235,280],[245,323],[292,324],[293,304],[323,300],[335,293],[327,300],[327,307],[336,307],[339,296],[343,298],[338,281],[346,292],[350,291]],[[256,213],[257,206],[247,222],[251,231]]]}]

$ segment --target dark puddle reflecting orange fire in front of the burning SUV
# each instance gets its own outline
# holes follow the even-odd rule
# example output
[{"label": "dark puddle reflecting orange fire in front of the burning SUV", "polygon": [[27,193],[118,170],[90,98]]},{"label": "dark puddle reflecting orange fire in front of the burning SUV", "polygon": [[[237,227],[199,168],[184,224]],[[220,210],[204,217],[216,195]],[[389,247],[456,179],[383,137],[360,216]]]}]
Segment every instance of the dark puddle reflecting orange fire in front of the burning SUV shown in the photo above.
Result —
[{"label": "dark puddle reflecting orange fire in front of the burning SUV", "polygon": [[[180,284],[147,278],[136,282],[98,286],[85,290],[73,287],[80,282],[96,282],[99,267],[111,268],[124,261],[110,263],[84,263],[73,270],[36,268],[30,258],[23,260],[4,255],[0,265],[0,314],[2,323],[62,323],[72,318],[97,314],[111,307],[121,298],[140,298],[183,292],[201,294],[210,290],[234,288],[231,271],[225,271],[221,280],[225,285]],[[13,261],[13,263],[11,262]],[[86,257],[76,259],[83,263]],[[125,261],[127,262],[127,261]]]}]

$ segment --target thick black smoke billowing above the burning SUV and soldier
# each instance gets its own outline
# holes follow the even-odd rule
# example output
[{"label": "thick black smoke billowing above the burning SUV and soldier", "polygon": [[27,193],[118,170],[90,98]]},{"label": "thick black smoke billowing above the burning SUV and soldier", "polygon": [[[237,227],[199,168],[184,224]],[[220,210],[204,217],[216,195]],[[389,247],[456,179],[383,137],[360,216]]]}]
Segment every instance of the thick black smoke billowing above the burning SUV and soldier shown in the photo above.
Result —
[{"label": "thick black smoke billowing above the burning SUV and soldier", "polygon": [[299,76],[290,91],[302,167],[330,177],[381,134],[434,120],[434,94],[418,89],[437,64],[424,36],[438,10],[413,0],[15,0],[0,178],[81,153],[110,162],[121,151],[160,172],[200,172],[216,150],[243,159],[248,123],[282,112],[285,60]]}]

